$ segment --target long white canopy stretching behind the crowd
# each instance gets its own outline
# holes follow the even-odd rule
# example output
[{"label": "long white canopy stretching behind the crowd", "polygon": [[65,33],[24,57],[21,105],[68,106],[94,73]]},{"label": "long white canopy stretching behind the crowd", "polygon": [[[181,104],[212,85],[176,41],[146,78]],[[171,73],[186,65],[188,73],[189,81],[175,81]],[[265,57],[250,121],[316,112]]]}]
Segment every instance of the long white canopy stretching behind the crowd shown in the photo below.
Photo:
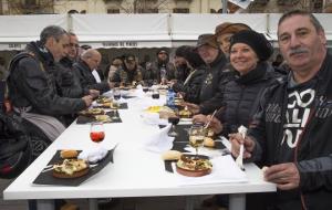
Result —
[{"label": "long white canopy stretching behind the crowd", "polygon": [[[281,14],[37,14],[1,15],[0,51],[23,50],[39,39],[49,24],[61,25],[77,34],[82,44],[93,48],[176,48],[195,44],[199,34],[214,33],[222,22],[242,22],[271,41],[277,40]],[[317,14],[332,42],[332,14]]]}]

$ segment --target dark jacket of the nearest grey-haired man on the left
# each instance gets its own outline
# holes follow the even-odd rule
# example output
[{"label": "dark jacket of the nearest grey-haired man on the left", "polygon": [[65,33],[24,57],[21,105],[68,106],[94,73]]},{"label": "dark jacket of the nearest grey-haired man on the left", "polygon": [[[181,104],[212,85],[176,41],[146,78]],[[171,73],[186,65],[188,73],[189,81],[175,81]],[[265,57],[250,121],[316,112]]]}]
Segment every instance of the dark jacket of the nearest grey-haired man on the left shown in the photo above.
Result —
[{"label": "dark jacket of the nearest grey-haired man on the left", "polygon": [[27,45],[27,52],[13,57],[8,77],[9,98],[17,108],[60,117],[86,107],[81,98],[61,97],[52,71],[56,71],[52,54],[39,42]]}]

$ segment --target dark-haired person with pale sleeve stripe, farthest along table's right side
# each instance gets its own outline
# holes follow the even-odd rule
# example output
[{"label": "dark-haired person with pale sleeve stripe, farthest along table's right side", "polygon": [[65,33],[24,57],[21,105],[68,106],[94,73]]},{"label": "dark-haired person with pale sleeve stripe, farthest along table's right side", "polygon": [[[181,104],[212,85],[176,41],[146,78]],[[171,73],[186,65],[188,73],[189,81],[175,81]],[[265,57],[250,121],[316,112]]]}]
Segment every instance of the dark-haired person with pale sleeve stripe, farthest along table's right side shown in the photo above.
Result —
[{"label": "dark-haired person with pale sleeve stripe, farthest along table's right side", "polygon": [[[189,70],[189,74],[184,81],[173,81],[172,88],[183,96],[186,102],[199,103],[199,93],[203,82],[203,76],[206,71],[205,62],[199,54],[195,52],[194,46],[181,45],[175,51],[175,62],[184,62]],[[176,70],[178,71],[178,69]]]}]

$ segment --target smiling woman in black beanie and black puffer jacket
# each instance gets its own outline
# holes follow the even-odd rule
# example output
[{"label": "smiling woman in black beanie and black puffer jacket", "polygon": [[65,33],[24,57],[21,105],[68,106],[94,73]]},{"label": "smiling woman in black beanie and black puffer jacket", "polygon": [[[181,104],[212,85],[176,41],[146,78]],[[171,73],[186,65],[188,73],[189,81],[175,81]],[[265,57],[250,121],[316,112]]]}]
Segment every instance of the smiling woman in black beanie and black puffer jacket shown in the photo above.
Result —
[{"label": "smiling woman in black beanie and black puffer jacket", "polygon": [[[237,133],[240,125],[248,127],[258,99],[263,90],[279,76],[267,71],[267,60],[273,52],[263,34],[241,31],[230,40],[230,64],[237,72],[236,78],[225,84],[222,106],[209,126],[216,134]],[[210,116],[194,116],[194,122],[206,123]]]}]

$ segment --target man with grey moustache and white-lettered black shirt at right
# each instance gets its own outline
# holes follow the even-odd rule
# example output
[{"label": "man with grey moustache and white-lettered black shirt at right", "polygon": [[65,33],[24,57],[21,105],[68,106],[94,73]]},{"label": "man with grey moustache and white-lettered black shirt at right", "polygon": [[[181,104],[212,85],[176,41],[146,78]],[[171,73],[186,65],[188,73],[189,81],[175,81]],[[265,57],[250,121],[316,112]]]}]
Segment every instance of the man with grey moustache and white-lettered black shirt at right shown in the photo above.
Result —
[{"label": "man with grey moustache and white-lettered black shirt at right", "polygon": [[320,22],[291,11],[278,23],[288,77],[271,85],[243,139],[230,135],[232,155],[261,160],[263,176],[278,187],[270,209],[328,209],[332,206],[332,56]]}]

